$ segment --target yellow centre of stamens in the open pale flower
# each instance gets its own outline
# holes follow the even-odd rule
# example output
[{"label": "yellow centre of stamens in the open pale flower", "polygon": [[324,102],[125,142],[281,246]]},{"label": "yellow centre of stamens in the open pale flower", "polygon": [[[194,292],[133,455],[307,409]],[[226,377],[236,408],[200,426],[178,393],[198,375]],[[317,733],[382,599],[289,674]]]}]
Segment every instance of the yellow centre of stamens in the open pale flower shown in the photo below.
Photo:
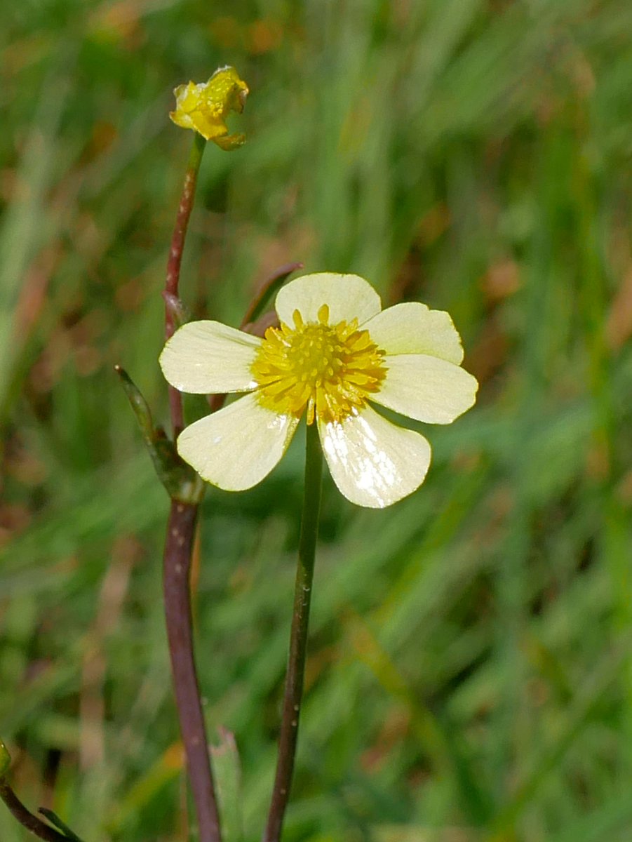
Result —
[{"label": "yellow centre of stamens in the open pale flower", "polygon": [[304,322],[298,310],[292,320],[293,327],[268,328],[252,363],[262,406],[296,418],[306,410],[307,424],[341,422],[380,392],[385,352],[357,319],[330,325],[323,304],[317,322]]}]

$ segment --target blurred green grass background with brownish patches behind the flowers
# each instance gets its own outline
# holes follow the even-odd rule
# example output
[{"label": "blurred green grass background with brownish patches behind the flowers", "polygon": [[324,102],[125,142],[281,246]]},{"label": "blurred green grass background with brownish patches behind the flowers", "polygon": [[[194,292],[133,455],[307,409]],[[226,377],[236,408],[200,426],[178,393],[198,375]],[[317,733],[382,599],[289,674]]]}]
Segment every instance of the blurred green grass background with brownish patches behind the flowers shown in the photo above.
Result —
[{"label": "blurred green grass background with brownish patches behind the flowers", "polygon": [[[447,309],[474,410],[385,511],[327,477],[287,842],[632,838],[629,0],[20,0],[0,11],[0,734],[88,842],[186,838],[161,604],[167,497],[119,363],[167,423],[160,290],[193,136],[231,64],[183,264],[240,322],[279,265]],[[191,405],[192,417],[199,406]],[[422,429],[421,425],[418,429]],[[210,489],[210,733],[272,785],[302,488],[295,442]],[[25,832],[0,806],[0,838]]]}]

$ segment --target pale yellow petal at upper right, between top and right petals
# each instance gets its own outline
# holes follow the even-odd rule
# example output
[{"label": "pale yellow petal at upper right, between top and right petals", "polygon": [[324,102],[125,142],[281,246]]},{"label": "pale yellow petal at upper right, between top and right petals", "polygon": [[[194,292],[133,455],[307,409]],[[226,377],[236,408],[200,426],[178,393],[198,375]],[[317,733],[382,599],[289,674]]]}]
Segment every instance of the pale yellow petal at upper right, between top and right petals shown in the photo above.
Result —
[{"label": "pale yellow petal at upper right, between top and right petals", "polygon": [[449,313],[419,301],[396,304],[362,326],[386,354],[430,354],[459,365],[463,346]]}]

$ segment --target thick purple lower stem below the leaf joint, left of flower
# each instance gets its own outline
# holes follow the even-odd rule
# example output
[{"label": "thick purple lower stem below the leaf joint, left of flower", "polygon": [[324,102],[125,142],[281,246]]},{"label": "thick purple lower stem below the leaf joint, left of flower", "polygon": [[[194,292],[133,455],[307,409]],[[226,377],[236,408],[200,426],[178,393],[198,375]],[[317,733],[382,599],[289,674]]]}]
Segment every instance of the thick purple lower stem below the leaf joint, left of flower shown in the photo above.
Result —
[{"label": "thick purple lower stem below the leaf joint, left of flower", "polygon": [[198,506],[172,500],[164,555],[167,639],[180,730],[198,816],[199,842],[220,842],[220,816],[199,699],[191,632],[189,573]]}]

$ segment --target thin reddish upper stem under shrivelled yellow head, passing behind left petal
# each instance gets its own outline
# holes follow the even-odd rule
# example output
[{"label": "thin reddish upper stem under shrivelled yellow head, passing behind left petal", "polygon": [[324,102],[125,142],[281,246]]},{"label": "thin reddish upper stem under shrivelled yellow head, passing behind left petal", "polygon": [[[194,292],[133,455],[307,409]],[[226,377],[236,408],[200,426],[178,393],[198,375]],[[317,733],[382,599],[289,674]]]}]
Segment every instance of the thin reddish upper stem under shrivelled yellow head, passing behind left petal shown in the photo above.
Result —
[{"label": "thin reddish upper stem under shrivelled yellow head, passing behind left petal", "polygon": [[[180,197],[180,204],[178,205],[178,215],[176,216],[176,224],[173,228],[173,237],[171,238],[171,248],[169,248],[169,258],[167,260],[167,282],[165,284],[165,292],[169,296],[175,296],[178,299],[178,286],[180,283],[180,265],[182,264],[182,255],[184,250],[184,238],[187,236],[187,227],[189,226],[189,216],[193,210],[195,200],[195,187],[198,182],[199,165],[202,163],[202,155],[206,141],[204,137],[194,132],[193,147],[189,154],[189,164],[187,165],[187,172],[184,174],[184,185],[182,195]],[[173,319],[173,307],[168,303],[165,305],[165,338],[168,339],[173,336],[176,325]],[[173,426],[173,436],[176,438],[182,432],[184,427],[182,395],[178,389],[169,386],[169,408],[171,410],[171,423]]]}]

